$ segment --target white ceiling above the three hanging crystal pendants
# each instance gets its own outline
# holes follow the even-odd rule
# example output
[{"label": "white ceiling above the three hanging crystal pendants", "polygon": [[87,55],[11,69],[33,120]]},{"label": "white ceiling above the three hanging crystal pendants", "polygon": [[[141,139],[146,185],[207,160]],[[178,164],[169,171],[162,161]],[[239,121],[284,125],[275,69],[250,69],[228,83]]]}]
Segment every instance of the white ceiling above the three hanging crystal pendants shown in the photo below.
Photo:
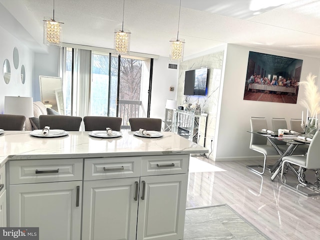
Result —
[{"label": "white ceiling above the three hanging crystal pendants", "polygon": [[[287,3],[260,9],[257,15],[258,10],[250,10],[251,1],[181,0],[179,38],[185,39],[184,56],[223,43],[320,56],[319,0],[277,0]],[[54,17],[64,22],[63,42],[113,48],[122,7],[122,0],[55,0]],[[178,12],[179,0],[125,0],[130,51],[168,56],[169,40],[177,35]],[[43,50],[42,20],[52,17],[53,0],[0,0],[0,15],[0,20],[6,17],[6,23],[0,23],[4,28],[23,37],[32,49]]]}]

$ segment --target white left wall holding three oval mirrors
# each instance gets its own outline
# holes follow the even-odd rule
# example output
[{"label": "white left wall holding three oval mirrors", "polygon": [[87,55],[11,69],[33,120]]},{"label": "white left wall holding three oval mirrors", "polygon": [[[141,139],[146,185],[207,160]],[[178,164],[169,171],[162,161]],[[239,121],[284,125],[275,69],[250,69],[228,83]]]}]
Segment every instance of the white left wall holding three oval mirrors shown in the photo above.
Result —
[{"label": "white left wall holding three oval mirrors", "polygon": [[[19,65],[17,69],[13,65],[13,48],[17,47],[19,53]],[[22,41],[15,38],[0,26],[0,113],[4,109],[4,96],[32,96],[32,76],[33,76],[34,54]],[[8,84],[3,79],[3,62],[9,60],[11,76]],[[25,82],[22,84],[20,72],[21,65],[25,68]]]}]

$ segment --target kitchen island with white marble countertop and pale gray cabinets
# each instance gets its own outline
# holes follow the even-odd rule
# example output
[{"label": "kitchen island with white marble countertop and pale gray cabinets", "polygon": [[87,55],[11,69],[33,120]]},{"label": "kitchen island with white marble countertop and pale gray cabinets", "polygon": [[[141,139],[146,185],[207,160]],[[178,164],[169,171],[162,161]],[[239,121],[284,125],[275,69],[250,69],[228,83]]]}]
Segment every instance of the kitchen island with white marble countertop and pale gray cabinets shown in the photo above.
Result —
[{"label": "kitchen island with white marble countertop and pale gray cabinets", "polygon": [[208,150],[162,134],[5,131],[7,225],[39,227],[40,239],[182,239],[189,154]]}]

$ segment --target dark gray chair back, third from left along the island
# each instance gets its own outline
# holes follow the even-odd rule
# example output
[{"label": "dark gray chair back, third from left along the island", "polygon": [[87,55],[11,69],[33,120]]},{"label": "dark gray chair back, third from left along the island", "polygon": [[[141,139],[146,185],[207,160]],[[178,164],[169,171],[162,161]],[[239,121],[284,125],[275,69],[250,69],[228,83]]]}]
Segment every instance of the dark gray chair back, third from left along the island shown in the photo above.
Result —
[{"label": "dark gray chair back, third from left along the island", "polygon": [[112,130],[121,130],[121,117],[115,116],[84,116],[84,130],[105,130],[106,127],[110,127]]}]

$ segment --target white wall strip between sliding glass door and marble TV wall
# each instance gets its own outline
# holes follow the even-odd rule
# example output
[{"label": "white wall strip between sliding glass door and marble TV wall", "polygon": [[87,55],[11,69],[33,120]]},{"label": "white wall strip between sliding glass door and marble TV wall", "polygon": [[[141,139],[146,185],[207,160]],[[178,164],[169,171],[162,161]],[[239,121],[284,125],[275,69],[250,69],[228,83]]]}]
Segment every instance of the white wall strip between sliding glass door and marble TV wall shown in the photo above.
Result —
[{"label": "white wall strip between sliding glass door and marble TV wall", "polygon": [[166,99],[176,99],[178,70],[168,68],[168,63],[169,58],[162,56],[153,61],[150,117],[164,118]]}]

